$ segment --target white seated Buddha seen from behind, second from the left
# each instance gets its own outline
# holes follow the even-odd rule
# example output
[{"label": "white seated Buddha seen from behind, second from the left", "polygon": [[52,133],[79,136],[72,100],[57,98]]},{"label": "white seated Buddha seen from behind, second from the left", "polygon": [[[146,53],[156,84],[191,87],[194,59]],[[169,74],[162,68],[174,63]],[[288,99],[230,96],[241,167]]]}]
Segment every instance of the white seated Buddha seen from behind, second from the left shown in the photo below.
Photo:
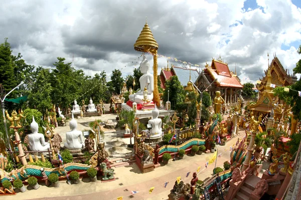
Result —
[{"label": "white seated Buddha seen from behind, second from the left", "polygon": [[66,132],[66,142],[64,147],[74,150],[81,149],[84,145],[83,133],[80,130],[77,130],[77,121],[75,120],[73,113],[72,119],[69,122],[69,127],[71,131]]}]

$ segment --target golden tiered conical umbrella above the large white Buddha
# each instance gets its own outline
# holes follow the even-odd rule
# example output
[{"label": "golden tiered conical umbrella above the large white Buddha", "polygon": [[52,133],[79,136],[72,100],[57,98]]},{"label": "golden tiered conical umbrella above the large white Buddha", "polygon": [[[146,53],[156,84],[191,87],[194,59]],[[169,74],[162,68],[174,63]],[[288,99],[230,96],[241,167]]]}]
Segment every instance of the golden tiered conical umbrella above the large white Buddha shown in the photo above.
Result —
[{"label": "golden tiered conical umbrella above the large white Buddha", "polygon": [[143,52],[155,52],[159,45],[154,38],[152,30],[148,27],[147,19],[145,20],[145,25],[142,28],[136,42],[134,43],[134,49]]}]

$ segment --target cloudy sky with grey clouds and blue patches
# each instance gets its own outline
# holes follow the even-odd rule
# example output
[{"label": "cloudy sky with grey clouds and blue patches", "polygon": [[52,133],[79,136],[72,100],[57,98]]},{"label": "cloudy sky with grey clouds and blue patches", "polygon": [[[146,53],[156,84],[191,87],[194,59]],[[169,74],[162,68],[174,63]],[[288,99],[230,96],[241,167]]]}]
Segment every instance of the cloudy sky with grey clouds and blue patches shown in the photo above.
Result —
[{"label": "cloudy sky with grey clouds and blue patches", "polygon": [[[267,52],[290,71],[301,58],[300,7],[299,0],[2,0],[0,38],[29,64],[51,67],[60,56],[89,75],[126,76],[141,60],[133,44],[147,16],[159,54],[201,67],[220,55],[230,70],[236,63],[243,82],[255,81]],[[164,67],[167,58],[158,62]]]}]

